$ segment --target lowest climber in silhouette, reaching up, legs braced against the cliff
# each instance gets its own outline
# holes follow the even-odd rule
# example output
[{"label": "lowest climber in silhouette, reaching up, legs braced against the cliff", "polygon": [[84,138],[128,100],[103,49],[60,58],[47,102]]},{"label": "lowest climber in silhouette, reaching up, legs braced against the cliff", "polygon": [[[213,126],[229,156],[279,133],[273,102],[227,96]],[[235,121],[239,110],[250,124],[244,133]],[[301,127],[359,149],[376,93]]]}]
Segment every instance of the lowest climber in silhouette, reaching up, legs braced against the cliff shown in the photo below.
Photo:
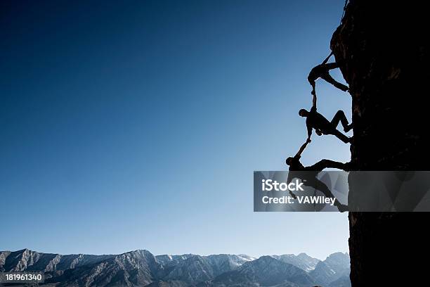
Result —
[{"label": "lowest climber in silhouette, reaching up, legs braced against the cliff", "polygon": [[[328,188],[327,184],[318,179],[318,174],[325,168],[337,168],[339,170],[348,171],[350,170],[350,163],[342,163],[334,160],[324,159],[320,160],[314,165],[305,167],[301,164],[300,158],[301,153],[303,153],[304,149],[310,142],[311,139],[307,139],[306,143],[304,143],[300,147],[299,151],[296,155],[294,155],[294,157],[289,157],[285,160],[285,163],[289,165],[287,183],[291,182],[295,178],[301,179],[301,182],[304,183],[304,186],[309,186],[317,191],[321,191],[327,198],[334,198],[334,195],[332,191],[330,191],[330,189]],[[292,195],[293,198],[296,198],[296,195],[292,193],[292,191],[289,191],[289,193]],[[334,200],[334,205],[340,212],[344,212],[348,208],[347,205],[341,204],[339,200],[337,200],[337,198]]]}]

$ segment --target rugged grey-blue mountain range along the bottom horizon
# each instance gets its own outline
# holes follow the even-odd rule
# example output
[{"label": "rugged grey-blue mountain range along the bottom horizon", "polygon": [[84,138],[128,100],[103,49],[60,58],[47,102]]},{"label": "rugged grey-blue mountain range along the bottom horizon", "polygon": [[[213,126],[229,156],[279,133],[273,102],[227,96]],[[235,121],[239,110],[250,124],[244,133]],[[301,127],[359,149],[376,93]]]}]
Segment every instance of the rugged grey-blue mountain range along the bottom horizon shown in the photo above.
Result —
[{"label": "rugged grey-blue mountain range along the bottom horizon", "polygon": [[119,255],[0,251],[0,272],[19,271],[44,272],[42,286],[59,287],[351,286],[347,253],[334,253],[322,261],[305,253],[254,258],[243,254],[152,255],[148,250]]}]

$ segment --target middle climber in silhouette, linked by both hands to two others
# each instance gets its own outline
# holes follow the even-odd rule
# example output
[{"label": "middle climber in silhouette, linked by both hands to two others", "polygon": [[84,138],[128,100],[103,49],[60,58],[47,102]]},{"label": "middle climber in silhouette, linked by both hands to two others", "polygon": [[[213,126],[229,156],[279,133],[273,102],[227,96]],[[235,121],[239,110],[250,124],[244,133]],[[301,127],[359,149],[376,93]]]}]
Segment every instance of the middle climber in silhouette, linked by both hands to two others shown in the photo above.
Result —
[{"label": "middle climber in silhouette, linked by both hands to two others", "polygon": [[308,139],[311,139],[312,129],[315,129],[315,132],[318,134],[318,136],[321,134],[332,134],[343,141],[345,144],[351,142],[352,138],[349,138],[337,130],[337,125],[339,125],[339,122],[341,122],[345,132],[349,132],[353,127],[352,123],[351,125],[348,125],[348,120],[346,119],[344,111],[338,110],[332,121],[329,122],[323,115],[317,112],[315,93],[313,94],[311,111],[307,111],[302,108],[299,110],[299,115],[301,117],[306,117]]}]

